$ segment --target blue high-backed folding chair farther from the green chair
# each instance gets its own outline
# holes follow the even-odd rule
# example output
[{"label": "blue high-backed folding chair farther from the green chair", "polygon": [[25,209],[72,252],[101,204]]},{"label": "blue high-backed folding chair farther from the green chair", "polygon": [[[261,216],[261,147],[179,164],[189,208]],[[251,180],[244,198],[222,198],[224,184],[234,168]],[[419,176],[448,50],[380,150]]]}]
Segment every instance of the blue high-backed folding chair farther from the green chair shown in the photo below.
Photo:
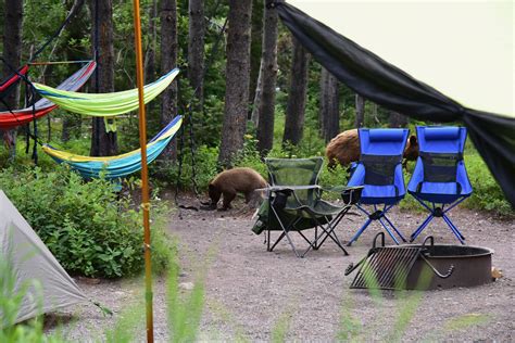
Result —
[{"label": "blue high-backed folding chair farther from the green chair", "polygon": [[[469,196],[473,191],[463,163],[467,130],[464,127],[418,126],[416,131],[419,155],[407,185],[407,191],[429,211],[429,216],[412,233],[411,242],[420,234],[432,218],[441,217],[460,242],[465,244],[465,238],[447,213]],[[441,207],[437,204],[441,204]],[[447,208],[445,205],[448,205]]]}]

